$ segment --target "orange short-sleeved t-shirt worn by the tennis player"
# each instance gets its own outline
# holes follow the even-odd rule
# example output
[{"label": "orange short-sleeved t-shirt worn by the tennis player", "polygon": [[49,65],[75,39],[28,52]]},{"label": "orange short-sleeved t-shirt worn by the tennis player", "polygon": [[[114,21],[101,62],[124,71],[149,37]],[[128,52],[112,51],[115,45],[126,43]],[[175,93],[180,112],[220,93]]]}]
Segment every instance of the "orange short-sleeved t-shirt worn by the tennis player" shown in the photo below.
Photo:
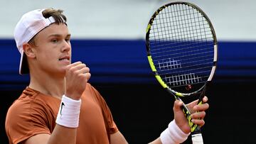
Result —
[{"label": "orange short-sleeved t-shirt worn by the tennis player", "polygon": [[[81,96],[77,144],[107,144],[118,128],[99,92],[87,83]],[[10,144],[20,143],[39,133],[52,133],[60,99],[27,87],[14,101],[6,115],[6,134]]]}]

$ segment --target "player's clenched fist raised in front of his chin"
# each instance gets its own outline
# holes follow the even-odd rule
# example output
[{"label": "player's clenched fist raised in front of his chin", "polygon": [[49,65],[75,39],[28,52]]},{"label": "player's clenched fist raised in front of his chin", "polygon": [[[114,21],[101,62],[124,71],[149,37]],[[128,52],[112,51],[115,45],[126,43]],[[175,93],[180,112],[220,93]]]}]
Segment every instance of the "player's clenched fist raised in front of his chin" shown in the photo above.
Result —
[{"label": "player's clenched fist raised in front of his chin", "polygon": [[85,91],[86,83],[90,79],[90,69],[82,62],[75,62],[66,67],[66,92],[70,99],[79,100]]}]

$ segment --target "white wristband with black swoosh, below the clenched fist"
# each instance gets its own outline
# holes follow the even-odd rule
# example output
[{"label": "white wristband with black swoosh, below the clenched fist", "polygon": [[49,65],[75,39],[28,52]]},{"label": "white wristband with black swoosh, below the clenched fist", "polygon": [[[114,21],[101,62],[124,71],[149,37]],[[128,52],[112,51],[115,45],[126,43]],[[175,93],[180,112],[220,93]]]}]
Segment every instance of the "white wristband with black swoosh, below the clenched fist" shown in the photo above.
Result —
[{"label": "white wristband with black swoosh, below the clenched fist", "polygon": [[63,95],[56,123],[68,128],[78,128],[81,99],[79,101],[70,99]]}]

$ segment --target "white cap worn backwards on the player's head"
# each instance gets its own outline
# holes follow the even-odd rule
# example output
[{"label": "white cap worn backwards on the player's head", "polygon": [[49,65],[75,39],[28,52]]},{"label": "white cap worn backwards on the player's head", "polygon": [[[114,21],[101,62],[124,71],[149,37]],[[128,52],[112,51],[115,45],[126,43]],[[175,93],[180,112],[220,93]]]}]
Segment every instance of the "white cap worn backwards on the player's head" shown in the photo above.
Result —
[{"label": "white cap worn backwards on the player's head", "polygon": [[28,43],[28,41],[43,30],[43,28],[46,28],[51,23],[55,22],[53,16],[50,16],[49,18],[45,18],[43,16],[42,12],[44,10],[45,9],[36,9],[25,13],[14,29],[16,46],[18,51],[21,53],[19,74],[26,74],[29,72],[26,55],[23,52],[23,43]]}]

